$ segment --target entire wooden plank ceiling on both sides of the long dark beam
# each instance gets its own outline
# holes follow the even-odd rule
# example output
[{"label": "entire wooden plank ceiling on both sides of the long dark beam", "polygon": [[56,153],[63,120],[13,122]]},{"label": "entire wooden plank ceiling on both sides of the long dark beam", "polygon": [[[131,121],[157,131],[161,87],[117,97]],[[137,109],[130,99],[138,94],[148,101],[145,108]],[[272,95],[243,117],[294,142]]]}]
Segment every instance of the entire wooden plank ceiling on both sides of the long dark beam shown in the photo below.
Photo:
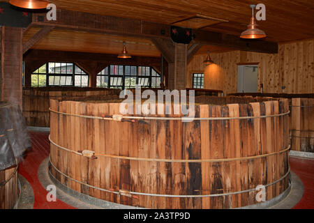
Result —
[{"label": "entire wooden plank ceiling on both sides of the long dark beam", "polygon": [[[212,17],[220,22],[202,21],[210,24],[202,30],[229,33],[239,36],[246,29],[251,17],[251,3],[256,1],[235,0],[107,0],[107,1],[71,1],[49,0],[57,8],[75,10],[100,15],[127,17],[157,22],[175,24],[186,21],[195,15]],[[258,21],[260,29],[267,33],[267,41],[283,42],[314,37],[314,1],[304,0],[260,0],[266,6],[266,21]],[[192,22],[193,23],[193,22]],[[186,24],[189,24],[188,22]],[[194,25],[198,25],[193,23]],[[24,33],[24,42],[33,36],[39,28],[32,27]],[[129,54],[136,56],[160,56],[151,40],[130,36],[103,35],[64,29],[53,29],[32,49],[50,49],[73,52],[95,52],[119,54],[122,43],[127,43]],[[232,49],[215,46],[203,46],[197,54],[225,52]]]}]

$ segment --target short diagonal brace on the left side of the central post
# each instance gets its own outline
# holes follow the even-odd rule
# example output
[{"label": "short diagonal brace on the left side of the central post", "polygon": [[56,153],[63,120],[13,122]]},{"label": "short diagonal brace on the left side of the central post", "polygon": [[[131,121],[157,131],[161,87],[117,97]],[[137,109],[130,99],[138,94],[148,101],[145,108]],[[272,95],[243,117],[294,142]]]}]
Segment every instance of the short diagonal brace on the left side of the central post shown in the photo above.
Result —
[{"label": "short diagonal brace on the left side of the central post", "polygon": [[174,43],[170,39],[151,38],[151,42],[163,54],[168,63],[174,62]]}]

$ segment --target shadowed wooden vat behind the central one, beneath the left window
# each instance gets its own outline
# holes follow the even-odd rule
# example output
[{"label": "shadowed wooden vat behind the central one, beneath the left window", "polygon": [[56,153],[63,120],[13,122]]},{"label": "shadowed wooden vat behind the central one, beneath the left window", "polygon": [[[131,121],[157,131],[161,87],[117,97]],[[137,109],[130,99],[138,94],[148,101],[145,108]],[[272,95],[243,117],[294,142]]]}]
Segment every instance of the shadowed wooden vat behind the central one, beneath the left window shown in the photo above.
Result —
[{"label": "shadowed wooden vat behind the central one, beneath the left window", "polygon": [[104,95],[119,95],[117,89],[91,88],[25,88],[23,89],[23,116],[27,125],[50,127],[50,99],[75,99]]}]

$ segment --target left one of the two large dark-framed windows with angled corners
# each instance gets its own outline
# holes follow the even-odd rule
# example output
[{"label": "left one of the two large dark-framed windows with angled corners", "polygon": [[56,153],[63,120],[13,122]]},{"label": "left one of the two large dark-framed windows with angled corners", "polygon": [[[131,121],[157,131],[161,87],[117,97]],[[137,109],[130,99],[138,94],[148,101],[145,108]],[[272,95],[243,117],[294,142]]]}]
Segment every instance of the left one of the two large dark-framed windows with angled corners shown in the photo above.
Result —
[{"label": "left one of the two large dark-framed windows with angled corners", "polygon": [[88,86],[89,75],[75,63],[49,62],[31,74],[31,86]]}]

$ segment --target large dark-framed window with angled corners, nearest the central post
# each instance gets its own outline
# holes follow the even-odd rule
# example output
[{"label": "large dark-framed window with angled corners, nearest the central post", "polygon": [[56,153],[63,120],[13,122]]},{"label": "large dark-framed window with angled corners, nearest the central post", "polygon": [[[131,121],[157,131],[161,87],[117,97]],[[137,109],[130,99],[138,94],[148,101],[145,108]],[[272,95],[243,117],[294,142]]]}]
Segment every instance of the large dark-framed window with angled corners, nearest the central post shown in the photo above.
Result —
[{"label": "large dark-framed window with angled corners, nearest the central post", "polygon": [[159,88],[161,75],[147,66],[110,65],[97,75],[97,87],[132,89],[135,85],[144,88]]}]

